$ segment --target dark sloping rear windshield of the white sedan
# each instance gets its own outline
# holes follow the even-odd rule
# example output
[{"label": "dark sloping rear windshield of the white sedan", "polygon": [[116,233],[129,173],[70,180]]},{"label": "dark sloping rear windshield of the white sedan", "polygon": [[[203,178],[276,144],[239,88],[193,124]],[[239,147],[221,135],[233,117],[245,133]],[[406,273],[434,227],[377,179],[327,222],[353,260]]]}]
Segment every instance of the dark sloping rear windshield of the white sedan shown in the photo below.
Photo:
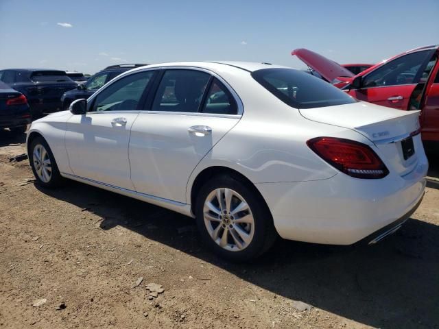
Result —
[{"label": "dark sloping rear windshield of the white sedan", "polygon": [[356,102],[328,82],[294,69],[262,69],[254,71],[252,77],[293,108],[322,108]]}]

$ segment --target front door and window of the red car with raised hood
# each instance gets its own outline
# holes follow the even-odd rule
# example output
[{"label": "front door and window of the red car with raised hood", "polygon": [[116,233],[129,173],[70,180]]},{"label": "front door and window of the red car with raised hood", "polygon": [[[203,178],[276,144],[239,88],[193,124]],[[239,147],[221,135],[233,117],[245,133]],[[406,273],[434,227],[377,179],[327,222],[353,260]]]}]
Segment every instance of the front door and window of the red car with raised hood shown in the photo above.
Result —
[{"label": "front door and window of the red car with raised hood", "polygon": [[362,86],[349,94],[361,100],[407,110],[410,97],[425,72],[434,51],[407,53],[364,75]]}]

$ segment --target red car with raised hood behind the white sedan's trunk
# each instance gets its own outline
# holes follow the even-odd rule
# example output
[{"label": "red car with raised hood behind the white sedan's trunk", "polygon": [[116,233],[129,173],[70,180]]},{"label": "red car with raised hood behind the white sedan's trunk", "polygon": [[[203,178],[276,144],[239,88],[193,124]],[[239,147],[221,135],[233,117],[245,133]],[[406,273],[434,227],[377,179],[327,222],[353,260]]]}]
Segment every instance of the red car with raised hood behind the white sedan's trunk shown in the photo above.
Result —
[{"label": "red car with raised hood behind the white sedan's trunk", "polygon": [[361,101],[420,110],[423,141],[439,141],[439,45],[406,51],[357,75],[307,49],[292,55]]}]

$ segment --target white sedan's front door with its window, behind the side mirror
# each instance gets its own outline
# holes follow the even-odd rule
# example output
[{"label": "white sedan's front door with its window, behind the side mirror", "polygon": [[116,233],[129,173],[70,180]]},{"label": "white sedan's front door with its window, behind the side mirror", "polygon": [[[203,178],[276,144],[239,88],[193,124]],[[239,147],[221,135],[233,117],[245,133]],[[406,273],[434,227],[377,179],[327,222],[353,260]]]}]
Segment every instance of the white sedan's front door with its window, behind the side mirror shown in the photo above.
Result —
[{"label": "white sedan's front door with its window, behind the side mirror", "polygon": [[153,74],[144,71],[113,82],[90,100],[86,114],[69,119],[65,141],[75,175],[134,190],[128,142]]}]

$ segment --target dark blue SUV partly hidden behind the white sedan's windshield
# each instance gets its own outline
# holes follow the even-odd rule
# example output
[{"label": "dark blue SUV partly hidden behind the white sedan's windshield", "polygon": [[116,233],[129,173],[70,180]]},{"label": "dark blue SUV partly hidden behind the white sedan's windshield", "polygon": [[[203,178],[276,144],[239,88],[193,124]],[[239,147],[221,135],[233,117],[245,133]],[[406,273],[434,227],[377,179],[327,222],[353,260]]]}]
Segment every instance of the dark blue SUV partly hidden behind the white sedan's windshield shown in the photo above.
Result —
[{"label": "dark blue SUV partly hidden behind the white sedan's windshield", "polygon": [[95,93],[96,90],[104,86],[117,75],[126,72],[134,67],[145,66],[147,64],[119,64],[111,65],[99,71],[90,77],[85,84],[80,84],[76,89],[69,90],[61,97],[62,109],[69,110],[69,106],[75,99],[87,99]]}]

